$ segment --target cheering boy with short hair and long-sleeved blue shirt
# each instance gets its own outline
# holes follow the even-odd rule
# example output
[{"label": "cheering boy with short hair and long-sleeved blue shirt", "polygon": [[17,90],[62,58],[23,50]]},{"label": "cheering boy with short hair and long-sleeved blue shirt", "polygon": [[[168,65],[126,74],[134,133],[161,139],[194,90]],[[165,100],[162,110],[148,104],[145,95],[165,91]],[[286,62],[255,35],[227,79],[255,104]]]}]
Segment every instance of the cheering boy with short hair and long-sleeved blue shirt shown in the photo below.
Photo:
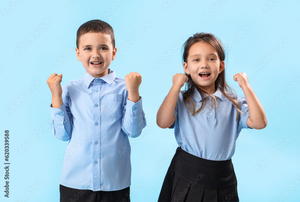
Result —
[{"label": "cheering boy with short hair and long-sleeved blue shirt", "polygon": [[113,28],[101,20],[79,27],[77,59],[86,72],[66,83],[62,74],[47,79],[52,93],[51,131],[69,140],[60,178],[60,201],[130,201],[129,137],[146,126],[139,95],[141,75],[125,80],[109,69],[115,59]]}]

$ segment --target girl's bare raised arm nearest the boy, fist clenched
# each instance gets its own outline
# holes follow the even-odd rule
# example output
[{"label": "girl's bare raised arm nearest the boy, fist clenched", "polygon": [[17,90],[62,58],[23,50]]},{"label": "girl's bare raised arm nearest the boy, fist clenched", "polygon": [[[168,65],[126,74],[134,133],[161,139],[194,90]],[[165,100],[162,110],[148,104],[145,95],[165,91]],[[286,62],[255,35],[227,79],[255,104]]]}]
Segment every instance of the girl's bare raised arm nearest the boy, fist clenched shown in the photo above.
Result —
[{"label": "girl's bare raised arm nearest the boy, fist clenched", "polygon": [[187,76],[184,74],[175,74],[173,76],[173,86],[158,109],[156,115],[156,124],[158,127],[168,128],[174,123],[176,102],[178,100],[180,89],[187,79]]}]

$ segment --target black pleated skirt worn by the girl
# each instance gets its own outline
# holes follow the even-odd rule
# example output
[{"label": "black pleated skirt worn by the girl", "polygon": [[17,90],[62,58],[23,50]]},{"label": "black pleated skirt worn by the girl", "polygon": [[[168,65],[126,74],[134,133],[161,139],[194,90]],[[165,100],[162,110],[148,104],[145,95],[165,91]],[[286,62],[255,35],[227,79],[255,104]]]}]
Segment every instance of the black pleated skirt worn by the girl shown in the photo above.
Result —
[{"label": "black pleated skirt worn by the girl", "polygon": [[208,160],[178,147],[158,201],[239,201],[231,159]]}]

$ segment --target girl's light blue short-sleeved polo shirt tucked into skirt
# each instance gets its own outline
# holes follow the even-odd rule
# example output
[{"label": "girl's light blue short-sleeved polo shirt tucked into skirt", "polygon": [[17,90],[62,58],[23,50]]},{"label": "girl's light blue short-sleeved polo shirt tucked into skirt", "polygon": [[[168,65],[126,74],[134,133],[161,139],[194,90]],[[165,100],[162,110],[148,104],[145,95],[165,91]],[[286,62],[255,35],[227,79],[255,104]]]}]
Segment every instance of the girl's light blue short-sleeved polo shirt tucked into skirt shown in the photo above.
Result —
[{"label": "girl's light blue short-sleeved polo shirt tucked into skirt", "polygon": [[[213,94],[217,100],[217,108],[214,108],[213,98],[208,97],[209,103],[202,111],[191,116],[191,112],[184,104],[183,93],[180,91],[175,107],[175,122],[169,128],[174,128],[176,141],[184,151],[197,157],[209,160],[228,160],[234,154],[235,141],[242,128],[247,126],[249,117],[248,105],[244,97],[238,97],[230,93],[231,97],[236,97],[240,104],[240,110],[244,114],[238,115],[237,111],[221,93],[218,88]],[[192,100],[195,104],[195,111],[202,104],[202,97],[195,88]],[[189,101],[190,103],[190,101]],[[211,107],[211,103],[213,104]],[[192,107],[192,104],[190,103]]]}]

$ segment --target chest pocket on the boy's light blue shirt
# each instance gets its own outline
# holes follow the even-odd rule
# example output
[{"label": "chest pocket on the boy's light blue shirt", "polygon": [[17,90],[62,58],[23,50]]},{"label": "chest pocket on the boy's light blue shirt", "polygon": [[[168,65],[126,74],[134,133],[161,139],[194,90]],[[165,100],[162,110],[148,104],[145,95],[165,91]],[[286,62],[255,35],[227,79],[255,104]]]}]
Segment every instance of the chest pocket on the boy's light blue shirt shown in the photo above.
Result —
[{"label": "chest pocket on the boy's light blue shirt", "polygon": [[121,118],[122,110],[122,94],[107,94],[105,95],[105,111],[110,118]]}]

